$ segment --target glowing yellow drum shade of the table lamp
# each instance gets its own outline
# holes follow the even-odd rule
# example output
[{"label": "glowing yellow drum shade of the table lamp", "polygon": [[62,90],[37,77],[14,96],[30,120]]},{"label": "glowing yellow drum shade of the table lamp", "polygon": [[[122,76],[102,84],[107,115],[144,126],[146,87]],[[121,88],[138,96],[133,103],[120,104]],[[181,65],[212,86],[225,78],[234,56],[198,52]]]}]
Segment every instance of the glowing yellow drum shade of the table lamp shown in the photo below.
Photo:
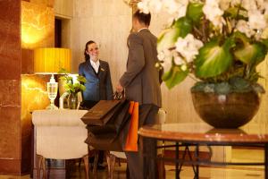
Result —
[{"label": "glowing yellow drum shade of the table lamp", "polygon": [[36,73],[57,73],[62,68],[71,70],[71,49],[37,48],[34,50],[34,71]]}]

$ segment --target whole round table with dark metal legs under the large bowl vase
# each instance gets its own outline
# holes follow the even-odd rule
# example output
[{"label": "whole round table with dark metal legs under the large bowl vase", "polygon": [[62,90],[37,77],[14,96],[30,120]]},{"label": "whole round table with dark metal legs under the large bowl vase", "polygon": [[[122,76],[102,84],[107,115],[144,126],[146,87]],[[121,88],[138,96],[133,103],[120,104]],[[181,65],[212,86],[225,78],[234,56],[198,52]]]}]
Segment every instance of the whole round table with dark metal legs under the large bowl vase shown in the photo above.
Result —
[{"label": "whole round table with dark metal legs under the large bowl vase", "polygon": [[[242,166],[264,166],[265,179],[268,179],[268,125],[247,124],[239,129],[215,129],[207,124],[159,124],[143,126],[139,130],[142,138],[155,141],[173,141],[174,145],[158,146],[157,148],[174,148],[175,158],[157,158],[163,161],[173,161],[176,164],[176,178],[180,178],[180,169],[183,164],[193,166],[195,178],[199,178],[200,165],[242,165]],[[179,158],[179,148],[186,147],[183,157]],[[195,146],[196,158],[191,158],[188,146]],[[207,146],[210,156],[213,155],[211,146],[250,146],[264,148],[264,162],[262,163],[230,163],[214,162],[209,159],[198,158],[199,147]],[[189,159],[185,159],[185,155]],[[150,154],[145,154],[152,158]],[[154,156],[153,158],[156,158]]]}]

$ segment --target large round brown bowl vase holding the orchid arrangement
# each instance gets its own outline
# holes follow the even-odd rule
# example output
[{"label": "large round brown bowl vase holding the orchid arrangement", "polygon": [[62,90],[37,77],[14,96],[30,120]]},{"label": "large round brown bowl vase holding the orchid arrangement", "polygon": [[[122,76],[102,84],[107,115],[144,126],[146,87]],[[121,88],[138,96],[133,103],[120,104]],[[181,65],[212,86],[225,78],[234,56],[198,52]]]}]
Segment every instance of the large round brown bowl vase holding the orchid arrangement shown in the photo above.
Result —
[{"label": "large round brown bowl vase holding the orchid arrangement", "polygon": [[192,91],[191,94],[197,114],[215,128],[238,128],[247,124],[260,105],[260,98],[253,91],[228,95]]}]

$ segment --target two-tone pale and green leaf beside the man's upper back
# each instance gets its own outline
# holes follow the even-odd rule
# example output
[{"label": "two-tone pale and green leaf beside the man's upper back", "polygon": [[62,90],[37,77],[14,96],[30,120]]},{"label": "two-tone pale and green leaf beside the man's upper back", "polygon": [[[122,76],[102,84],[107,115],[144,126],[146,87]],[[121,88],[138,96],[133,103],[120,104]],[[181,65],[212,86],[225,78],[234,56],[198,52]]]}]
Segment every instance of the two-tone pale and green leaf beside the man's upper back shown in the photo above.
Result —
[{"label": "two-tone pale and green leaf beside the man's upper back", "polygon": [[182,17],[175,21],[170,29],[164,30],[157,41],[157,50],[162,51],[174,47],[179,37],[185,38],[192,30],[191,21],[186,17]]}]

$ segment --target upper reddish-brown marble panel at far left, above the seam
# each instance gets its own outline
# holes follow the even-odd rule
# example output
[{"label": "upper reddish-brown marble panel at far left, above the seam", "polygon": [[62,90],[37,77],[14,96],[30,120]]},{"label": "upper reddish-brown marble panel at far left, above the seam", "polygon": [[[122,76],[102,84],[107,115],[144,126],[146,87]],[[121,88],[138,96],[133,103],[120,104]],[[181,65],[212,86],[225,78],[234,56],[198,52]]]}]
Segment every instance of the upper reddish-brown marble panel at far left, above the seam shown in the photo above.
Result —
[{"label": "upper reddish-brown marble panel at far left, above the seam", "polygon": [[21,77],[21,3],[0,1],[0,80]]}]

